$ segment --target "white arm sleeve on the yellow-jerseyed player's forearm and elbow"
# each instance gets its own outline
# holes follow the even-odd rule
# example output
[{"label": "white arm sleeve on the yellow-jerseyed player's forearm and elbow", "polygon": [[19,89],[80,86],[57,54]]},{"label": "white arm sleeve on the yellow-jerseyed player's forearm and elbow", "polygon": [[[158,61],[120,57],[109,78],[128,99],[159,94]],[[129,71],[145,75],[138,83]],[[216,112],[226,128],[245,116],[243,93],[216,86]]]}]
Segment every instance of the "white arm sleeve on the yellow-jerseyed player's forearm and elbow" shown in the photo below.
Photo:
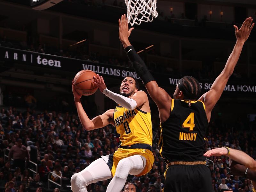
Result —
[{"label": "white arm sleeve on the yellow-jerseyed player's forearm and elbow", "polygon": [[109,91],[107,88],[104,89],[102,93],[106,95],[108,98],[114,100],[117,104],[120,104],[122,107],[127,108],[129,110],[133,110],[137,106],[137,103],[134,99],[130,99],[123,95]]}]

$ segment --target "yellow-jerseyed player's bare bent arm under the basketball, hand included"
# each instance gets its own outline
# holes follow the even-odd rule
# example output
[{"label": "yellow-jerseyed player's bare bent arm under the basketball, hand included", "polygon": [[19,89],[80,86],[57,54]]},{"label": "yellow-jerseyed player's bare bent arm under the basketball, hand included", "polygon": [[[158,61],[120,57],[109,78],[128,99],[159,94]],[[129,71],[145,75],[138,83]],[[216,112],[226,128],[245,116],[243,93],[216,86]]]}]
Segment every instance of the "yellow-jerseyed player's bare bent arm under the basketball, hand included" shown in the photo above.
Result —
[{"label": "yellow-jerseyed player's bare bent arm under the basketball, hand included", "polygon": [[93,129],[99,129],[101,127],[104,127],[108,124],[114,125],[114,120],[113,120],[113,114],[114,114],[114,109],[109,109],[102,115],[94,117],[92,120],[89,119],[87,114],[84,111],[84,108],[81,104],[80,98],[81,94],[79,94],[74,87],[74,80],[72,81],[72,91],[73,95],[75,98],[75,104],[76,104],[76,109],[77,109],[77,114],[78,117],[81,121],[82,126],[84,127],[85,130],[90,131]]}]

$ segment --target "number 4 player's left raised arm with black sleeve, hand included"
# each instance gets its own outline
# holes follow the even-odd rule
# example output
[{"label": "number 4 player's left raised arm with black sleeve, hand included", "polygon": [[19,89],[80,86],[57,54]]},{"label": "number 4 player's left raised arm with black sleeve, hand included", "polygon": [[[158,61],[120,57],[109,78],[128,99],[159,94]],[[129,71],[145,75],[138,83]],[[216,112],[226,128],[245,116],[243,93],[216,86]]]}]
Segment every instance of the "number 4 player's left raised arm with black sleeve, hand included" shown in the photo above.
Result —
[{"label": "number 4 player's left raised arm with black sleeve, hand included", "polygon": [[121,19],[118,20],[118,23],[119,39],[124,46],[125,52],[127,53],[127,56],[131,61],[136,73],[140,76],[143,83],[145,84],[150,97],[155,101],[159,110],[160,121],[164,122],[170,115],[172,98],[166,91],[164,91],[164,89],[158,86],[154,77],[148,71],[146,64],[129,42],[128,38],[133,28],[128,30],[128,21],[125,14],[122,15]]}]

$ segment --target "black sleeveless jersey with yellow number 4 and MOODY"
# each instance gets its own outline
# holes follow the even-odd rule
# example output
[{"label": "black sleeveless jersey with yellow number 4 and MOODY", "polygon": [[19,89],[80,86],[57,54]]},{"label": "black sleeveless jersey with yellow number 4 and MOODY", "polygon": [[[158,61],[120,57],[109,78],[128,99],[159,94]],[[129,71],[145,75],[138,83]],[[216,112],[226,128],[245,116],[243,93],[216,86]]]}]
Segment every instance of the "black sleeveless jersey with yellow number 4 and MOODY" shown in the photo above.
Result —
[{"label": "black sleeveless jersey with yellow number 4 and MOODY", "polygon": [[205,161],[204,136],[208,127],[202,101],[171,100],[170,117],[160,126],[159,149],[166,163]]}]

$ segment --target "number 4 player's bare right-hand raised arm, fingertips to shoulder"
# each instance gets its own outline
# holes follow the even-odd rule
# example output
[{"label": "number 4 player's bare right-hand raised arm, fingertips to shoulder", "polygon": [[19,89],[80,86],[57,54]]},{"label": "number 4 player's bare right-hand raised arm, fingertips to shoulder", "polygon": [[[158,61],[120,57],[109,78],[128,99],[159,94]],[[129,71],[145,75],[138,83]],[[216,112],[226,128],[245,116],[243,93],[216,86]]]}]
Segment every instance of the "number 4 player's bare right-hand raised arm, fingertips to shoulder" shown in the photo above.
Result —
[{"label": "number 4 player's bare right-hand raised arm, fingertips to shoulder", "polygon": [[253,26],[254,26],[254,23],[252,23],[251,17],[247,18],[244,21],[242,27],[239,30],[234,25],[235,33],[236,33],[236,44],[234,46],[234,49],[230,54],[223,71],[220,73],[220,75],[216,78],[216,80],[212,84],[210,91],[204,93],[204,95],[202,95],[199,99],[204,101],[208,121],[210,120],[213,107],[215,106],[217,101],[220,99],[220,96],[224,91],[224,88],[228,82],[229,77],[233,74],[234,68],[236,66],[236,63],[242,51],[244,42],[248,39]]}]

